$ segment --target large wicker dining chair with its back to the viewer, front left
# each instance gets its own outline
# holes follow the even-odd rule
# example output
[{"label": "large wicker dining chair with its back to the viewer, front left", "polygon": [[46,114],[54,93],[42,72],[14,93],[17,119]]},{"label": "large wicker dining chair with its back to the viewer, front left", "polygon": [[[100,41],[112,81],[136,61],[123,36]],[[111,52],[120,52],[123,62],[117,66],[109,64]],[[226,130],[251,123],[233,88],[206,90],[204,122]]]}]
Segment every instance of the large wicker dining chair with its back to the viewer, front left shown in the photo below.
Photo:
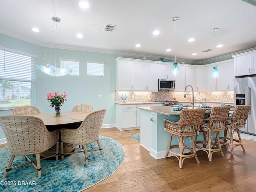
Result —
[{"label": "large wicker dining chair with its back to the viewer, front left", "polygon": [[[58,160],[58,138],[59,130],[49,132],[46,129],[44,122],[34,116],[26,115],[8,115],[0,117],[0,126],[6,137],[6,141],[10,150],[10,160],[4,177],[10,170],[32,164],[38,171],[38,178],[41,177],[41,160],[56,157]],[[56,146],[56,154],[51,156],[40,158],[40,153],[48,150],[52,146]],[[28,155],[36,154],[36,160],[31,160]],[[18,166],[12,166],[12,162],[16,155],[24,155],[28,159],[28,163],[21,164]],[[36,163],[36,164],[35,164]]]}]

